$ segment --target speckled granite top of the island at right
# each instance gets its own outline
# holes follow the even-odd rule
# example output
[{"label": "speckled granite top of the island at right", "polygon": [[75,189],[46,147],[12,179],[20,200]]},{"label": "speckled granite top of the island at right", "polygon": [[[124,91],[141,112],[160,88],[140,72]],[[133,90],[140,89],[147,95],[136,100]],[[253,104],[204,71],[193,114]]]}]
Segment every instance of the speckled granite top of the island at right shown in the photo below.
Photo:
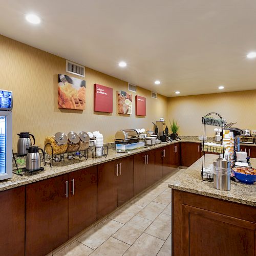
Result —
[{"label": "speckled granite top of the island at right", "polygon": [[[205,166],[213,163],[216,155],[205,154]],[[256,167],[256,159],[251,158],[251,165]],[[256,206],[256,185],[246,185],[231,181],[230,190],[222,191],[214,188],[213,182],[202,181],[202,157],[182,172],[174,181],[169,183],[170,188]]]}]

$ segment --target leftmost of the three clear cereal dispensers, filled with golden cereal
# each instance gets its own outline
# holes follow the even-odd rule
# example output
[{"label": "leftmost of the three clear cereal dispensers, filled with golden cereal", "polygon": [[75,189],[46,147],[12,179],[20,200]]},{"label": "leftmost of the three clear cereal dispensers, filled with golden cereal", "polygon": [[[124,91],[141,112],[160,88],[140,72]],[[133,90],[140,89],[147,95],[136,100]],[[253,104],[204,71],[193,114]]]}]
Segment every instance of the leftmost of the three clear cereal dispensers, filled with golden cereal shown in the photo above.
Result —
[{"label": "leftmost of the three clear cereal dispensers, filled with golden cereal", "polygon": [[68,148],[68,137],[64,133],[56,133],[45,139],[45,148],[48,155],[59,155],[65,153]]}]

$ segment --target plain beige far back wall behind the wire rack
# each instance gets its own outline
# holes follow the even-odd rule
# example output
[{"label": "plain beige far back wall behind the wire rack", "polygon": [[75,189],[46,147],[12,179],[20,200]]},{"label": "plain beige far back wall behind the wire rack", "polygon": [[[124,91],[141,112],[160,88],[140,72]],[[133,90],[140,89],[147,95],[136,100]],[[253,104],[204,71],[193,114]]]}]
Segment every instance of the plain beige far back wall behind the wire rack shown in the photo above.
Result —
[{"label": "plain beige far back wall behind the wire rack", "polygon": [[[256,90],[168,98],[168,117],[178,120],[179,135],[203,135],[202,117],[219,113],[234,127],[256,130]],[[214,126],[207,126],[208,136],[214,136]]]}]

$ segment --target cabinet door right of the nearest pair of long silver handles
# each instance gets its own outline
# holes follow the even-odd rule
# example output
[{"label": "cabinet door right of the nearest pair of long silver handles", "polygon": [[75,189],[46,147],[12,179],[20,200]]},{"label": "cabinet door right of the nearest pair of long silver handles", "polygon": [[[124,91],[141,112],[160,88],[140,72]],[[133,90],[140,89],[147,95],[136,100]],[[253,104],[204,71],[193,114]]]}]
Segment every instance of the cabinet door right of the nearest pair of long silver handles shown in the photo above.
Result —
[{"label": "cabinet door right of the nearest pair of long silver handles", "polygon": [[97,166],[69,174],[69,238],[97,220]]}]

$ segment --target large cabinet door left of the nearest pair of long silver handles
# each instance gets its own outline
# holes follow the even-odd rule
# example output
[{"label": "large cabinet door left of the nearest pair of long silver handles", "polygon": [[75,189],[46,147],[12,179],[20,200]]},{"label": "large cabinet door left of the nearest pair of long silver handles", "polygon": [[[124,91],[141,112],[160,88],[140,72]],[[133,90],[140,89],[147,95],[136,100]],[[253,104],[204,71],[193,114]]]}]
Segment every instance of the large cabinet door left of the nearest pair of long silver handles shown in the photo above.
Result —
[{"label": "large cabinet door left of the nearest pair of long silver handles", "polygon": [[68,240],[66,181],[68,174],[26,185],[26,255],[45,255]]}]

